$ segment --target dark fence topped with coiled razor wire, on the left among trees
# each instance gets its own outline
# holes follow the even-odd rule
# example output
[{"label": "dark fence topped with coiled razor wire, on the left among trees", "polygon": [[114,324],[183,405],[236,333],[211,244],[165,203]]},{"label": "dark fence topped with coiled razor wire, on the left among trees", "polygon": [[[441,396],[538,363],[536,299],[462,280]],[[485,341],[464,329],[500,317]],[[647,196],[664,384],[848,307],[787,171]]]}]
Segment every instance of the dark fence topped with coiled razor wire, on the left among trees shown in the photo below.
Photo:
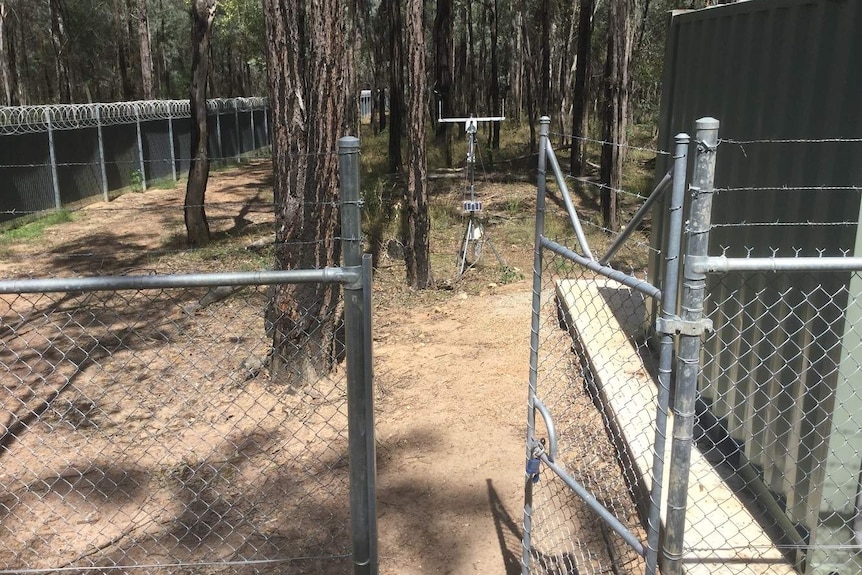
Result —
[{"label": "dark fence topped with coiled razor wire, on the left among trees", "polygon": [[[216,163],[269,145],[262,98],[208,100]],[[175,181],[191,157],[188,100],[0,108],[0,223]]]}]

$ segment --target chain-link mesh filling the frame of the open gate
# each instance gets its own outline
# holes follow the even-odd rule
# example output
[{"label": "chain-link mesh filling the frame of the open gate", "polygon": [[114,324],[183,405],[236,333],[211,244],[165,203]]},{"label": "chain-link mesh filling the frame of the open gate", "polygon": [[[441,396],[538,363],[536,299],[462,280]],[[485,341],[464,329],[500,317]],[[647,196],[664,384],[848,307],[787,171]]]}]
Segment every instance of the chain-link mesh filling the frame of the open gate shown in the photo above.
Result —
[{"label": "chain-link mesh filling the frame of the open gate", "polygon": [[[567,227],[565,220],[552,217],[547,226],[549,238],[577,245],[554,231]],[[646,249],[635,242],[615,264],[633,270],[632,262],[646,261]],[[641,475],[652,465],[656,411],[643,337],[651,300],[551,251],[542,275],[536,386],[556,426],[556,463],[645,541],[635,502],[648,500],[651,483]],[[538,417],[536,436],[547,437]],[[644,570],[643,558],[544,466],[533,486],[531,555],[531,573]]]}]

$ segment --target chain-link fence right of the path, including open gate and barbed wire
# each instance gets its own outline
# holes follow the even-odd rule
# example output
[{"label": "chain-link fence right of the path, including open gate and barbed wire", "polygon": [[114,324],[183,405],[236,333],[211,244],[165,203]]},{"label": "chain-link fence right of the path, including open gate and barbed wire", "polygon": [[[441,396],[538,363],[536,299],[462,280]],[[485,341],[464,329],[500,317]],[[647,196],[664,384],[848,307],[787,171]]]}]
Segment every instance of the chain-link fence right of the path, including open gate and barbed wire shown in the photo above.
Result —
[{"label": "chain-link fence right of the path, including open gate and barbed wire", "polygon": [[[723,219],[712,212],[717,193],[815,187],[836,205],[855,194],[858,212],[862,188],[716,188],[718,122],[704,118],[691,182],[681,134],[673,169],[632,216],[661,206],[661,237],[638,242],[629,227],[594,255],[542,138],[523,572],[860,572],[862,258],[852,244],[780,249],[786,228],[841,226],[846,238],[858,221],[729,220],[728,199]],[[746,142],[790,143],[822,142]],[[542,202],[545,149],[562,224]],[[767,231],[737,229],[752,226]],[[620,251],[632,239],[641,254]],[[661,289],[632,261],[661,262]]]}]

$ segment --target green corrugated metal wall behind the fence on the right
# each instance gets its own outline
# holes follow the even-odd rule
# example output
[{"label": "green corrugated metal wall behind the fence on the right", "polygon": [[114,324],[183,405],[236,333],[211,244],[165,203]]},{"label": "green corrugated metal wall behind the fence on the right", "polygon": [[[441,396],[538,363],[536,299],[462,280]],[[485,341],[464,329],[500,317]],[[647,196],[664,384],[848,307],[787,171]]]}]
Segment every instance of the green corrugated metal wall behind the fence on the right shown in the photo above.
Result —
[{"label": "green corrugated metal wall behind the fence on the right", "polygon": [[[678,132],[694,136],[697,118],[721,121],[716,186],[736,190],[715,197],[711,255],[862,256],[860,192],[836,189],[862,184],[862,143],[726,141],[862,137],[862,2],[752,0],[675,13],[661,110],[665,150]],[[799,189],[811,186],[824,189]],[[786,189],[738,190],[762,187]],[[666,213],[655,212],[654,238]],[[662,266],[656,256],[652,278]],[[710,279],[716,332],[705,347],[702,397],[803,533],[823,514],[855,513],[862,353],[838,345],[852,349],[859,339],[845,321],[860,316],[848,314],[848,292],[862,297],[850,274]],[[849,438],[848,422],[833,420],[836,395],[841,417],[856,426]],[[830,445],[842,426],[840,445]]]}]

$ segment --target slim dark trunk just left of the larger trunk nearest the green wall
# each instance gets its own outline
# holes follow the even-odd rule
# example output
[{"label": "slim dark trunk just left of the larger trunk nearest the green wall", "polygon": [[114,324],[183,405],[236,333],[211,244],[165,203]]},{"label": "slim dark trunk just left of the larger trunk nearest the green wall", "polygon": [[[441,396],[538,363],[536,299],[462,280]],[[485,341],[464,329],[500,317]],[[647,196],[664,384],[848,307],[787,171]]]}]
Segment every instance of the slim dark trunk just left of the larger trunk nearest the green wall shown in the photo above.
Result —
[{"label": "slim dark trunk just left of the larger trunk nearest the green wall", "polygon": [[575,88],[572,94],[572,156],[573,176],[583,176],[587,161],[587,137],[589,128],[590,46],[593,35],[593,0],[581,0],[578,14],[578,54],[575,66]]}]

